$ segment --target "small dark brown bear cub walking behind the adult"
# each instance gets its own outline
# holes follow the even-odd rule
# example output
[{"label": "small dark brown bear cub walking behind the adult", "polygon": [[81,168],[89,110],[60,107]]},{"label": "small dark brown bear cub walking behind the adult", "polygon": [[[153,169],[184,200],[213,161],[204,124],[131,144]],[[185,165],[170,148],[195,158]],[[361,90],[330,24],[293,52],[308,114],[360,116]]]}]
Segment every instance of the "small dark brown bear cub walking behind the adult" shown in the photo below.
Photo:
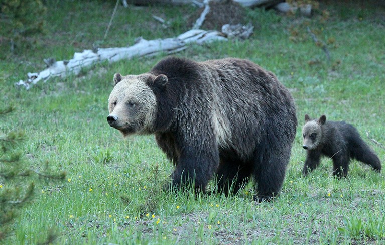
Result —
[{"label": "small dark brown bear cub walking behind the adult", "polygon": [[356,128],[344,121],[326,121],[322,115],[318,120],[305,115],[302,129],[303,148],[307,150],[303,175],[313,171],[319,164],[322,155],[333,160],[333,174],[346,177],[350,159],[356,159],[381,171],[381,163],[377,155],[361,139]]}]

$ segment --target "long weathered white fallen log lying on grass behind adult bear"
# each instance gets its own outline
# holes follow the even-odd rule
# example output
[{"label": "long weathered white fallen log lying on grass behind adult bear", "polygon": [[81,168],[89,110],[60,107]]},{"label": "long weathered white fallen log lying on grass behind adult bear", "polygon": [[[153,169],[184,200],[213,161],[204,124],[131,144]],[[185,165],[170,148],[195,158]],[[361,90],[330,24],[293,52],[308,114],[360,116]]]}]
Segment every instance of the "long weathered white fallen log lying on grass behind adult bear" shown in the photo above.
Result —
[{"label": "long weathered white fallen log lying on grass behind adult bear", "polygon": [[84,50],[75,53],[69,61],[56,61],[46,59],[48,67],[41,72],[27,73],[26,81],[20,80],[17,86],[29,89],[31,85],[39,81],[46,82],[52,77],[65,77],[69,74],[79,74],[82,68],[108,60],[110,63],[121,59],[132,59],[134,57],[153,56],[159,53],[175,53],[186,48],[188,43],[202,44],[215,40],[227,40],[225,35],[218,31],[190,30],[177,38],[145,40],[140,38],[133,46],[120,48],[99,48],[97,51]]}]

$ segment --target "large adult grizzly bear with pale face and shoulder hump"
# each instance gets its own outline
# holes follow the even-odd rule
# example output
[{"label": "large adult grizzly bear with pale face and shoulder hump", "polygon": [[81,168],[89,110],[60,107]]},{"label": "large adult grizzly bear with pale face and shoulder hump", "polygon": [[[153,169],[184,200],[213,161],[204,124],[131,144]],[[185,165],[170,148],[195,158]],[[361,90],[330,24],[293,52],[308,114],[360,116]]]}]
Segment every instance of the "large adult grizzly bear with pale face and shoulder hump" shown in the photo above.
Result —
[{"label": "large adult grizzly bear with pale face and shoulder hump", "polygon": [[297,128],[293,98],[260,66],[227,58],[168,57],[148,73],[114,75],[109,125],[154,134],[175,170],[171,188],[237,192],[253,176],[256,200],[279,194]]}]

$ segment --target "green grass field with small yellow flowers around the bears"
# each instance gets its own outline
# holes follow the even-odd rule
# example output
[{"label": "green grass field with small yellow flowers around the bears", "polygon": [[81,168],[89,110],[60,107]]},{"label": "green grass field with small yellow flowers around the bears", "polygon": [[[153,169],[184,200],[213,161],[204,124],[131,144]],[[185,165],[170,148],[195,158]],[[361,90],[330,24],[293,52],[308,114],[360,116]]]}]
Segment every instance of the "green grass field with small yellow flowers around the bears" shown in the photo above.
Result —
[{"label": "green grass field with small yellow flowers around the bears", "polygon": [[[336,180],[325,158],[301,176],[306,113],[350,122],[385,162],[385,8],[365,3],[321,3],[311,19],[250,9],[247,19],[256,26],[250,39],[192,45],[176,54],[197,61],[246,58],[274,72],[292,92],[297,137],[281,195],[264,203],[251,200],[251,185],[232,197],[163,192],[172,164],[153,136],[123,139],[108,126],[113,74],[146,72],[163,55],[96,65],[29,91],[13,85],[27,72],[44,69],[43,58],[70,59],[95,42],[118,47],[139,36],[175,37],[189,29],[185,22],[194,8],[119,8],[102,40],[114,1],[51,3],[45,34],[30,37],[16,54],[1,44],[0,104],[17,110],[0,128],[26,133],[22,151],[31,166],[49,161],[67,177],[58,185],[37,184],[35,201],[5,243],[37,244],[53,230],[57,244],[385,244],[382,173],[353,161],[349,177]],[[170,28],[162,29],[149,13],[169,20]],[[330,62],[307,27],[327,44]],[[1,40],[7,35],[2,27]],[[7,183],[0,184],[3,191]]]}]

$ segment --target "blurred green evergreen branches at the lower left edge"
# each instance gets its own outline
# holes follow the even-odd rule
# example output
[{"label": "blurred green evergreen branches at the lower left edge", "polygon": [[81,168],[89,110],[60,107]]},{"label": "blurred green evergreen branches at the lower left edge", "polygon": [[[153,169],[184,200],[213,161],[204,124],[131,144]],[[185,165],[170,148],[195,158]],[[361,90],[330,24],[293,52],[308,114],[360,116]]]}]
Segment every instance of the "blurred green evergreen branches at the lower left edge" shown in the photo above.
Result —
[{"label": "blurred green evergreen branches at the lower left edge", "polygon": [[[13,107],[0,108],[1,120],[13,111]],[[0,129],[0,241],[10,234],[18,211],[32,201],[36,181],[65,178],[64,172],[51,171],[48,163],[42,170],[28,166],[19,149],[24,138],[23,132]]]}]

